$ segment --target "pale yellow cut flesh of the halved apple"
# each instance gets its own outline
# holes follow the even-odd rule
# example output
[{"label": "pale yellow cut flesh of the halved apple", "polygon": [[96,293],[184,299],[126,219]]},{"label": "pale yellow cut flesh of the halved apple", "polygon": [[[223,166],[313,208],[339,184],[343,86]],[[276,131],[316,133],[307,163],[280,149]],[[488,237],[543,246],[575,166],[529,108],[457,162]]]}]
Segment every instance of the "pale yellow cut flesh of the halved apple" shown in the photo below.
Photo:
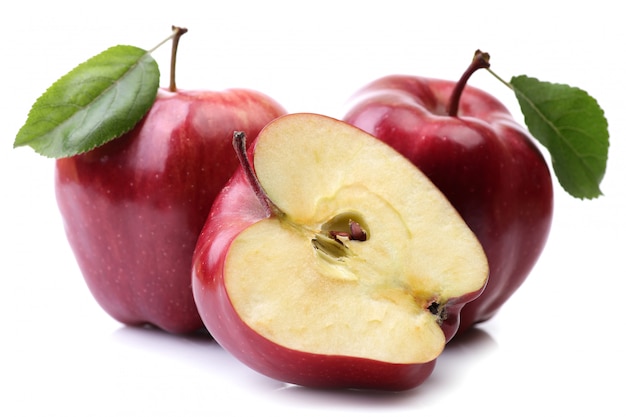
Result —
[{"label": "pale yellow cut flesh of the halved apple", "polygon": [[[291,349],[435,359],[445,338],[428,306],[478,291],[488,274],[482,247],[439,190],[382,142],[311,114],[268,126],[254,164],[285,217],[256,223],[231,246],[225,281],[242,319]],[[368,239],[343,239],[340,258],[316,250],[323,225],[348,212]]]}]

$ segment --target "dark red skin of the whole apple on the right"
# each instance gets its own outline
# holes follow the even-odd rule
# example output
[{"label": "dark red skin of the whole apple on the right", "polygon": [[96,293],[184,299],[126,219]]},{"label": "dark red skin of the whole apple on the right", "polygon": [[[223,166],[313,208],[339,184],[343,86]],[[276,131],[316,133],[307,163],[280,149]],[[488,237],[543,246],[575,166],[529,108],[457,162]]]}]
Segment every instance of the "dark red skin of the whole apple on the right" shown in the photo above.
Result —
[{"label": "dark red skin of the whole apple on the right", "polygon": [[492,318],[531,272],[548,239],[553,188],[542,154],[497,99],[466,86],[458,117],[447,114],[455,85],[383,77],[355,94],[344,121],[420,168],[483,245],[489,281],[461,310],[462,333]]}]

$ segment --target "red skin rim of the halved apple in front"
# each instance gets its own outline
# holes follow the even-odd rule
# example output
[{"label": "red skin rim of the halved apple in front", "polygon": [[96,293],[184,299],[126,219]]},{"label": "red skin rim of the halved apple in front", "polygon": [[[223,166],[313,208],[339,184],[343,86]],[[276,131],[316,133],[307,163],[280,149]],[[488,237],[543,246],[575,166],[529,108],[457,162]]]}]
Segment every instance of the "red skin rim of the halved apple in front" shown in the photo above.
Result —
[{"label": "red skin rim of the halved apple in front", "polygon": [[[249,153],[252,159],[251,151]],[[392,364],[296,351],[259,335],[241,320],[225,287],[224,262],[233,240],[244,229],[267,217],[243,170],[238,170],[215,200],[193,260],[196,305],[215,340],[250,368],[287,383],[313,388],[382,391],[404,391],[422,384],[433,372],[436,360]],[[461,307],[479,293],[449,302],[448,320],[442,325],[447,340],[456,332]]]}]

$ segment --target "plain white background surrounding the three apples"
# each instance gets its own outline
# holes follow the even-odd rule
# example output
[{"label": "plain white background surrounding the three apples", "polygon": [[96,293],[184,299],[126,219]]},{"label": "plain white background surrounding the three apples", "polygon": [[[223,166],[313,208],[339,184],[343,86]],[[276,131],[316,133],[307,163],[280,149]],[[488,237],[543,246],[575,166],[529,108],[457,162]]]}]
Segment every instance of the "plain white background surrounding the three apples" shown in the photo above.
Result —
[{"label": "plain white background surrounding the three apples", "polygon": [[[219,5],[215,5],[219,3]],[[554,5],[553,5],[554,4]],[[12,2],[0,71],[0,415],[625,415],[626,31],[619,2]],[[53,162],[12,149],[35,99],[109,46],[146,49],[186,26],[180,88],[261,90],[291,112],[342,117],[383,75],[457,79],[475,49],[503,78],[528,74],[598,99],[612,144],[604,196],[556,189],[548,245],[492,321],[401,394],[287,386],[214,342],[121,326],[88,292],[65,240]],[[167,82],[169,45],[155,53]],[[521,119],[486,71],[471,84]]]}]

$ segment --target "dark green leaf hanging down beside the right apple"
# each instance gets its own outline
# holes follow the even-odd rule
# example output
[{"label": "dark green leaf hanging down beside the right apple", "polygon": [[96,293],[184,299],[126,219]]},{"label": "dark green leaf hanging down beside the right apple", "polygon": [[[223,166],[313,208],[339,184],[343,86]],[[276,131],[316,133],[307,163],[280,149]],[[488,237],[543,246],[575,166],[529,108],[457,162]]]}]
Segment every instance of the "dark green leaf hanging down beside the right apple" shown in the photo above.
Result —
[{"label": "dark green leaf hanging down beside the right apple", "polygon": [[609,150],[604,111],[585,91],[525,75],[510,82],[530,133],[550,152],[554,173],[574,197],[595,198]]}]

